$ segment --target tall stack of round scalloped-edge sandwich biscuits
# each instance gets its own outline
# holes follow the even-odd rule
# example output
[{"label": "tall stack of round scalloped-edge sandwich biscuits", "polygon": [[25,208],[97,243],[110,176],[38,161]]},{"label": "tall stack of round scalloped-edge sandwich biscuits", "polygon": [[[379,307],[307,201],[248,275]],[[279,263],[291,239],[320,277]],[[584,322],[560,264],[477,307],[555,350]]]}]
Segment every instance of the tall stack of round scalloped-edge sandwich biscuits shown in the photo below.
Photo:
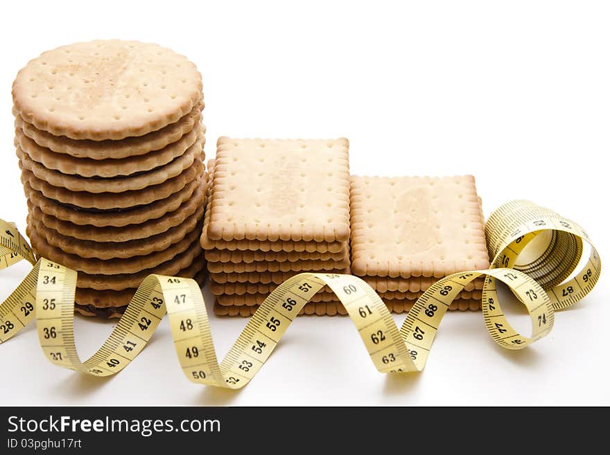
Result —
[{"label": "tall stack of round scalloped-edge sandwich biscuits", "polygon": [[117,316],[151,273],[202,278],[201,75],[120,40],[62,46],[17,74],[15,145],[33,249],[78,271],[77,310]]}]

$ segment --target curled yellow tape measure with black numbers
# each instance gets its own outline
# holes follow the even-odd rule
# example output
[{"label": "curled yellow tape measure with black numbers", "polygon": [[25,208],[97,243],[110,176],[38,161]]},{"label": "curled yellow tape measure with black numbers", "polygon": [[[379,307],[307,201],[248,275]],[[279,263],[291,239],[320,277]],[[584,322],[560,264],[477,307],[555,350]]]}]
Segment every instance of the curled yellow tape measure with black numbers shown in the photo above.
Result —
[{"label": "curled yellow tape measure with black numbers", "polygon": [[[582,299],[597,282],[601,262],[589,235],[575,222],[528,201],[513,201],[489,218],[485,233],[491,269],[442,278],[415,302],[399,330],[387,307],[363,280],[351,275],[304,273],[281,284],[262,303],[234,346],[218,363],[199,285],[188,278],[148,276],[103,346],[81,362],[74,344],[76,271],[45,258],[36,260],[15,224],[0,220],[0,267],[26,259],[34,268],[0,305],[0,341],[36,319],[40,345],[55,365],[89,375],[110,376],[146,346],[168,314],[184,375],[199,384],[228,389],[245,386],[271,355],[299,311],[328,285],[354,321],[374,366],[381,373],[421,371],[449,305],[472,280],[484,277],[482,312],[489,334],[507,349],[522,349],[550,332],[555,310]],[[591,255],[578,266],[583,240]],[[505,318],[496,280],[527,308],[532,337],[523,337]]]}]

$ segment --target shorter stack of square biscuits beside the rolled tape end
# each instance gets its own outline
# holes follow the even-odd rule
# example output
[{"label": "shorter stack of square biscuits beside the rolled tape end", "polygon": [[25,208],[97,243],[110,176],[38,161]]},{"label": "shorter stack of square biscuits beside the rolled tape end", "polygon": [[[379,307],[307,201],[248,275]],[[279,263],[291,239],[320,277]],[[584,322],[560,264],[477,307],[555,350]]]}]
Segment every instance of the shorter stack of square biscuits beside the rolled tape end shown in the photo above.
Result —
[{"label": "shorter stack of square biscuits beside the rolled tape end", "polygon": [[[489,268],[474,177],[351,177],[351,271],[394,312],[408,311],[435,281]],[[482,280],[450,310],[478,310]]]}]

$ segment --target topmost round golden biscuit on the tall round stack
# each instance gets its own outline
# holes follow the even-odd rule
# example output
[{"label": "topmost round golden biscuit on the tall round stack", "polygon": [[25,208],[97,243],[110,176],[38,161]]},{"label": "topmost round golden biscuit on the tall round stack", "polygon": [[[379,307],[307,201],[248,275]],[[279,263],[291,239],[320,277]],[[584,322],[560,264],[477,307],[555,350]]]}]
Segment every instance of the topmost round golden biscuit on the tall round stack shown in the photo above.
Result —
[{"label": "topmost round golden biscuit on the tall round stack", "polygon": [[12,99],[38,130],[102,141],[179,121],[201,91],[201,75],[184,55],[112,39],[61,46],[30,60],[12,84]]}]

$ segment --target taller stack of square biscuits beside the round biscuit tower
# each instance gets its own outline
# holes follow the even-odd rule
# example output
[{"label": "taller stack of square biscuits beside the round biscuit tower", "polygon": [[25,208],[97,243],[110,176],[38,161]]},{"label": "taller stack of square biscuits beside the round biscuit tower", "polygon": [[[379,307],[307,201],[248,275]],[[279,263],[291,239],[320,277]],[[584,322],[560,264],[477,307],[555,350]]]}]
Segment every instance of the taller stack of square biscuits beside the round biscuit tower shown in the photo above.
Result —
[{"label": "taller stack of square biscuits beside the round biscuit tower", "polygon": [[[302,271],[349,273],[347,139],[218,139],[201,244],[220,315],[250,316]],[[307,314],[345,312],[330,289]]]}]

